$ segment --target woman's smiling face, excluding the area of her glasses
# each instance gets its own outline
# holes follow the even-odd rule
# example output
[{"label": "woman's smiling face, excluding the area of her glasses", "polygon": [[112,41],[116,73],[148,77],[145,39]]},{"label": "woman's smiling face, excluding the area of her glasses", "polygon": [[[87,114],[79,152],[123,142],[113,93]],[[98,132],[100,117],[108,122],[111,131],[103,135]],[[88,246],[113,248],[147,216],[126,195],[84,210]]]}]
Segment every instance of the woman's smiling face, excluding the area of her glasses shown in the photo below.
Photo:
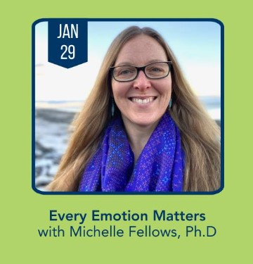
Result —
[{"label": "woman's smiling face, excluding the area of her glasses", "polygon": [[[124,44],[115,66],[140,67],[156,61],[167,61],[164,49],[152,37],[141,34]],[[125,126],[157,125],[171,98],[171,75],[151,80],[141,70],[130,82],[117,82],[112,78],[112,93]]]}]

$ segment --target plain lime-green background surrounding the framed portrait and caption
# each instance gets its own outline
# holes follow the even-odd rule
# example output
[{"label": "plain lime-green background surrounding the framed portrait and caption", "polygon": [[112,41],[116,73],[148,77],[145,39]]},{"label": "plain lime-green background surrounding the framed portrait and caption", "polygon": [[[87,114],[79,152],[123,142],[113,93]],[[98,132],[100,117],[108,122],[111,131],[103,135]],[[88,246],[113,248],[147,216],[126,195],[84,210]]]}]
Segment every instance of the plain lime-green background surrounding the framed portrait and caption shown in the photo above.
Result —
[{"label": "plain lime-green background surrounding the framed portrait and caption", "polygon": [[[22,1],[1,8],[1,263],[248,263],[252,21],[249,1]],[[236,2],[238,3],[238,2]],[[216,18],[225,27],[225,188],[212,196],[70,196],[32,190],[32,23],[39,18]],[[250,77],[249,77],[250,76]],[[210,76],[212,77],[212,76]],[[207,80],[208,81],[208,80]],[[246,146],[246,147],[245,147]],[[38,236],[48,210],[206,213],[215,237]],[[109,223],[110,224],[110,223]],[[108,226],[100,223],[100,227]],[[113,224],[113,223],[112,223]],[[149,224],[149,223],[147,223]],[[190,223],[189,223],[190,224]],[[198,224],[198,223],[197,223]],[[126,227],[129,223],[117,224]],[[143,224],[140,224],[143,225]],[[179,227],[161,222],[154,227]],[[250,246],[250,248],[249,248]]]}]

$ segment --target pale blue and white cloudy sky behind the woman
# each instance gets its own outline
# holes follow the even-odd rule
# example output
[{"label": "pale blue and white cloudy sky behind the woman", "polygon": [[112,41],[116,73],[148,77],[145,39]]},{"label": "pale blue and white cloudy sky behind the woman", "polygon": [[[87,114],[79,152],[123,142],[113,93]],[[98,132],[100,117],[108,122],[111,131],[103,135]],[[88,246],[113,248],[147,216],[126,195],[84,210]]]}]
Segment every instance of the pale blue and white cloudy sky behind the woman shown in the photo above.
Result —
[{"label": "pale blue and white cloudy sky behind the woman", "polygon": [[221,94],[221,28],[211,21],[102,21],[88,23],[88,63],[65,69],[47,62],[47,23],[36,25],[36,101],[85,100],[100,63],[119,32],[130,25],[160,32],[199,96]]}]

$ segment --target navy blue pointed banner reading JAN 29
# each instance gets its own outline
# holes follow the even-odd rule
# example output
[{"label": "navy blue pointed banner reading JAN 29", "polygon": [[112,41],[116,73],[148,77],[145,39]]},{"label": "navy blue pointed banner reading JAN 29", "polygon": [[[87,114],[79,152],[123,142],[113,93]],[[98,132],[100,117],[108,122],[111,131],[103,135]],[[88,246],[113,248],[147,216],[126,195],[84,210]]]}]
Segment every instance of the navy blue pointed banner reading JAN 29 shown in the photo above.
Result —
[{"label": "navy blue pointed banner reading JAN 29", "polygon": [[48,20],[48,62],[72,68],[88,61],[87,20]]}]

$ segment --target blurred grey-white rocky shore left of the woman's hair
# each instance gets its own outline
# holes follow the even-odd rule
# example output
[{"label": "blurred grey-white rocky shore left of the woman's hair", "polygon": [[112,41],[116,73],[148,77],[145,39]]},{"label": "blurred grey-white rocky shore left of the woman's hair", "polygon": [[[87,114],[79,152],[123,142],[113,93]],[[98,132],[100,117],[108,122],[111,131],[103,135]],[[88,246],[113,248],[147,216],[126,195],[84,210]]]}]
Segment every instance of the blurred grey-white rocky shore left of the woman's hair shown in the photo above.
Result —
[{"label": "blurred grey-white rocky shore left of the woman's hair", "polygon": [[43,191],[56,175],[75,113],[57,108],[36,108],[35,115],[35,186]]}]

